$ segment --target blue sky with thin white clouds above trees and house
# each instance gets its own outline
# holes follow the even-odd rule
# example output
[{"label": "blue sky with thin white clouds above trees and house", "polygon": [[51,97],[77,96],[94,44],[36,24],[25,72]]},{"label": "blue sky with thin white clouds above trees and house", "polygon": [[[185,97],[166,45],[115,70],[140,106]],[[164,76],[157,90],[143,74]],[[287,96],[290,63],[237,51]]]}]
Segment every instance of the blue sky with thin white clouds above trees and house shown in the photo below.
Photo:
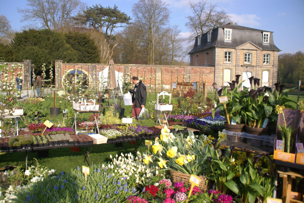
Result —
[{"label": "blue sky with thin white clouds above trees and house", "polygon": [[[104,7],[113,7],[115,4],[131,18],[132,6],[136,2],[136,0],[85,1],[88,6],[101,4]],[[189,30],[185,27],[186,16],[191,15],[189,0],[163,0],[163,2],[168,4],[171,11],[170,24],[178,25],[182,36],[189,36]],[[218,7],[225,10],[231,16],[231,20],[238,25],[274,32],[274,43],[282,50],[279,54],[304,52],[304,12],[302,11],[304,0],[210,0],[210,2],[217,2]],[[17,8],[26,7],[25,0],[0,0],[0,7],[0,14],[11,21],[14,30],[21,31],[27,24],[20,22],[21,14],[17,12]]]}]

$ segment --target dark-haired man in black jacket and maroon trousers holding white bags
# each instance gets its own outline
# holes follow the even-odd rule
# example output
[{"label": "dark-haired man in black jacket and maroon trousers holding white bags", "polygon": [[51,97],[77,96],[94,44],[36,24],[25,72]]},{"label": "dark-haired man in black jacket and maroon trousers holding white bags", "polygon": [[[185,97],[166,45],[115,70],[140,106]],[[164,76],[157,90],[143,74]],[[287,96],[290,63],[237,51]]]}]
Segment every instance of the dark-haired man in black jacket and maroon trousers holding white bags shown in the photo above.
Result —
[{"label": "dark-haired man in black jacket and maroon trousers holding white bags", "polygon": [[132,77],[132,82],[135,84],[134,90],[129,89],[129,92],[133,93],[132,117],[137,119],[137,116],[139,115],[141,109],[146,105],[147,90],[146,86],[144,86],[144,83],[141,80],[138,80],[138,77]]}]

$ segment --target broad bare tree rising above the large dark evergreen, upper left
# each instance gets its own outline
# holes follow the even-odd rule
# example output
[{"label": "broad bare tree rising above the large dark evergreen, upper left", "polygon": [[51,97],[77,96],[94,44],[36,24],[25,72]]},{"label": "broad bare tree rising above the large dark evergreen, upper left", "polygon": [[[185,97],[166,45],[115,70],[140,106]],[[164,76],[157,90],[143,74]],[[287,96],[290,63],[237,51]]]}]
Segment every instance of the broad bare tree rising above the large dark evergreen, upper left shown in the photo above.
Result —
[{"label": "broad bare tree rising above the large dark evergreen, upper left", "polygon": [[73,15],[84,6],[79,0],[27,0],[27,7],[19,9],[22,21],[35,21],[42,27],[66,32],[73,26]]}]

